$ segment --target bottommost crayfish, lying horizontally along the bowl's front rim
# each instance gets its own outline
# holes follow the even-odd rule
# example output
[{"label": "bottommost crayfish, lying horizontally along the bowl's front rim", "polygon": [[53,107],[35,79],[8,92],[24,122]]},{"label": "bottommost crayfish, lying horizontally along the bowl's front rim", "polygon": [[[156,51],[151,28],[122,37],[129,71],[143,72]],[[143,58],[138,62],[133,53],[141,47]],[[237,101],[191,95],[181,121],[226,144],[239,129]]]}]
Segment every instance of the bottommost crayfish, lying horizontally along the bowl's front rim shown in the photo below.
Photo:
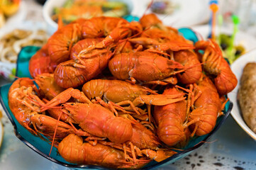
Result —
[{"label": "bottommost crayfish, lying horizontally along the bowl's front rim", "polygon": [[127,162],[128,156],[119,149],[106,145],[91,145],[83,142],[82,137],[69,135],[58,146],[60,155],[74,164],[94,164],[111,168],[136,168],[145,165],[145,162]]}]

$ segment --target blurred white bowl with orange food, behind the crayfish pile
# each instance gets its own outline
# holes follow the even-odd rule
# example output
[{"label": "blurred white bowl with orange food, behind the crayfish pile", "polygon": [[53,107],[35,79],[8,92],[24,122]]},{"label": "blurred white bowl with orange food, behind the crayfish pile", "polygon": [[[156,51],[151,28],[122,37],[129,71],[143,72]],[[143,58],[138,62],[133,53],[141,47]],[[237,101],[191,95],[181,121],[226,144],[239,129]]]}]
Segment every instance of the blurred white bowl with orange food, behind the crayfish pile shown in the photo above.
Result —
[{"label": "blurred white bowl with orange food, behind the crayfish pile", "polygon": [[[139,10],[135,0],[101,0],[101,1],[81,1],[81,0],[48,0],[43,6],[43,18],[48,25],[48,35],[57,30],[58,13],[62,16],[64,23],[69,23],[79,18],[91,18],[92,16],[125,16],[135,15],[134,10]],[[84,4],[84,5],[82,5]],[[135,4],[137,7],[135,7]],[[86,10],[84,10],[84,8]],[[141,9],[140,9],[141,10]],[[87,11],[87,12],[84,12]]]}]

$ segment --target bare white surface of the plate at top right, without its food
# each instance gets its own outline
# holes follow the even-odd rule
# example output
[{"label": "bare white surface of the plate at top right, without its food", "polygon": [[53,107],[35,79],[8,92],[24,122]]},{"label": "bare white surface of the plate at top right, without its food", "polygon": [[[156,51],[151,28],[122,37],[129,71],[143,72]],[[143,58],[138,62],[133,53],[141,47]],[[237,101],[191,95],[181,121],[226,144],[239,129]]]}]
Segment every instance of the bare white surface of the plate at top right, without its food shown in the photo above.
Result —
[{"label": "bare white surface of the plate at top right, without its food", "polygon": [[[136,2],[135,6],[140,6],[140,8],[135,9],[133,14],[139,17],[143,16],[151,0],[140,0]],[[176,28],[194,26],[204,23],[210,18],[211,11],[206,0],[172,0],[171,2],[175,6],[178,6],[173,13],[169,15],[157,14],[160,20],[167,26]],[[151,11],[148,10],[148,13],[151,13]]]}]

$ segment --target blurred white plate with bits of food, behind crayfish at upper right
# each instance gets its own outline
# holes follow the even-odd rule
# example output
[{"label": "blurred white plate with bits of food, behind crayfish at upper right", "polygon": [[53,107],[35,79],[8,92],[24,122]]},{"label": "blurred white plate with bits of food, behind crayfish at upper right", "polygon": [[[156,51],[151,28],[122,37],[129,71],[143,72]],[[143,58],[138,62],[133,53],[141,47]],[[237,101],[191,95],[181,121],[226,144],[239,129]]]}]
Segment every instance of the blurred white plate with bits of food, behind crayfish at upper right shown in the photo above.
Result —
[{"label": "blurred white plate with bits of food, behind crayfish at upper right", "polygon": [[[150,2],[151,0],[140,0],[140,10],[136,11],[136,15],[143,16]],[[152,12],[155,12],[165,25],[176,28],[206,23],[210,18],[208,1],[201,0],[156,0],[147,11]]]}]

